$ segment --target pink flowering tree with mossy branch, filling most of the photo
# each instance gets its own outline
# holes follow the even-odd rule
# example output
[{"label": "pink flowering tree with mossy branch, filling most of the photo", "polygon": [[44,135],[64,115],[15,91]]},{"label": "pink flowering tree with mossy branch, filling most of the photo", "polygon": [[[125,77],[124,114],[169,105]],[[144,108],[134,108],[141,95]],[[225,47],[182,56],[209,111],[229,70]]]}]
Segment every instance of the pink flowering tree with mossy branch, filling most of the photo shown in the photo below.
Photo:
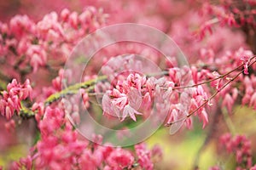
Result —
[{"label": "pink flowering tree with mossy branch, filling most of the photo", "polygon": [[204,146],[221,119],[219,147],[236,169],[256,169],[230,121],[236,105],[256,110],[255,1],[79,4],[0,22],[0,148],[16,133],[33,141],[6,168],[155,169],[162,150],[143,139],[200,123]]}]

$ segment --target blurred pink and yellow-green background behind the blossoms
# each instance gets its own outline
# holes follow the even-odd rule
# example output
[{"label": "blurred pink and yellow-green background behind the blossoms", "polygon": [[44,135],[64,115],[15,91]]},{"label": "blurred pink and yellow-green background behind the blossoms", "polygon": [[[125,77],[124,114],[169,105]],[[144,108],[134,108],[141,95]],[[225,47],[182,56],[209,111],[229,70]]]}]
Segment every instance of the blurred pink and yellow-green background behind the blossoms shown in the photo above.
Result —
[{"label": "blurred pink and yellow-green background behind the blossoms", "polygon": [[[189,3],[188,3],[189,2]],[[212,3],[215,3],[212,2]],[[26,14],[35,21],[42,20],[45,14],[56,11],[58,14],[63,8],[71,11],[81,12],[84,6],[92,5],[96,8],[102,8],[104,13],[108,14],[107,25],[122,22],[137,22],[154,26],[168,35],[177,38],[178,45],[181,45],[186,56],[193,62],[196,60],[196,53],[191,53],[184,45],[180,34],[186,33],[183,29],[191,29],[191,23],[201,20],[197,16],[196,8],[201,3],[196,1],[107,1],[107,0],[1,0],[0,1],[0,20],[9,22],[15,14]],[[190,18],[189,18],[189,17]],[[187,20],[186,20],[187,19]],[[190,24],[188,28],[179,27],[181,22]],[[185,26],[185,25],[183,25]],[[194,25],[195,27],[197,25]],[[223,33],[225,31],[225,33]],[[234,32],[236,33],[234,33]],[[219,31],[223,35],[222,48],[229,48],[227,44],[237,43],[231,48],[239,47],[244,42],[247,46],[254,47],[255,40],[248,37],[249,33],[244,30],[228,31],[225,27]],[[236,42],[229,40],[229,37],[235,35],[238,37]],[[229,37],[225,37],[229,35]],[[189,37],[187,37],[189,38]],[[212,38],[214,39],[214,38]],[[253,40],[252,40],[253,39]],[[213,41],[213,40],[212,40]],[[205,43],[205,42],[203,42]],[[203,43],[198,43],[201,47]],[[204,44],[203,44],[204,45]],[[221,54],[221,52],[219,52]],[[188,130],[182,128],[174,135],[169,134],[168,127],[162,127],[152,137],[147,139],[149,147],[159,144],[163,149],[163,160],[160,161],[155,169],[208,169],[215,165],[224,167],[224,169],[234,169],[236,166],[236,157],[228,154],[219,146],[219,137],[227,132],[233,131],[236,134],[245,134],[252,141],[253,164],[256,163],[256,112],[246,106],[238,105],[233,111],[232,116],[224,116],[222,108],[212,108],[208,111],[210,124],[202,129],[201,122],[194,119],[194,128]],[[227,114],[227,113],[226,113]],[[16,132],[9,133],[4,127],[3,117],[0,117],[0,165],[6,165],[9,161],[18,160],[21,156],[26,156],[26,152],[37,139],[37,133],[34,133],[30,127],[24,127],[23,123]],[[34,127],[32,120],[24,123],[26,126]]]}]

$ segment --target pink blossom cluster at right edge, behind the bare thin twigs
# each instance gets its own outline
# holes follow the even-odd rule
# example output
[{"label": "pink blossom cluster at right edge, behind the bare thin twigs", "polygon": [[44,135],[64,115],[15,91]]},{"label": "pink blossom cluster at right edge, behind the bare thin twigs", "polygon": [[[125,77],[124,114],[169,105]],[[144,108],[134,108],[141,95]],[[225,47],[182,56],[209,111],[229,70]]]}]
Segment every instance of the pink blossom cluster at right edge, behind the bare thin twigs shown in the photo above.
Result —
[{"label": "pink blossom cluster at right edge, behind the bare thin twigs", "polygon": [[[225,54],[220,55],[219,58],[212,58],[211,50],[202,49],[201,54],[205,57],[210,57],[209,60],[212,61],[210,61],[209,64],[212,63],[213,68],[218,68],[218,72],[212,72],[210,70],[211,68],[197,71],[195,67],[192,67],[192,76],[194,82],[198,83],[212,79],[210,82],[211,87],[216,88],[217,90],[221,89],[216,99],[223,98],[222,106],[226,107],[229,113],[232,112],[232,107],[235,105],[235,101],[238,99],[239,93],[245,94],[243,95],[242,104],[249,104],[250,106],[253,106],[254,100],[250,101],[251,99],[248,98],[249,95],[246,95],[253,95],[253,88],[251,88],[253,87],[253,75],[248,75],[248,65],[250,65],[252,71],[256,69],[255,65],[252,65],[255,62],[255,56],[253,56],[252,51],[239,48],[235,52],[226,51]],[[240,71],[243,71],[243,74],[236,77]],[[229,74],[224,76],[225,73]],[[233,83],[230,83],[229,85],[225,86],[224,89],[222,89],[225,83],[229,82],[233,77],[236,77],[236,79],[232,80]],[[237,87],[236,82],[241,82],[245,86]]]}]

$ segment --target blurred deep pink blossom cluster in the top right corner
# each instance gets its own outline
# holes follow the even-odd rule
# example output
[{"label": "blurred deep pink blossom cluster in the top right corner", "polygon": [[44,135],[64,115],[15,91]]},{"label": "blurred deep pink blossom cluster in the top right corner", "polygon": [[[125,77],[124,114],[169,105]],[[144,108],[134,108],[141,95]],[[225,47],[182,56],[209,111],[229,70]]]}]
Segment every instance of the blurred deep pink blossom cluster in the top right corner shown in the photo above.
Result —
[{"label": "blurred deep pink blossom cluster in the top right corner", "polygon": [[[200,14],[207,18],[207,21],[203,22],[195,33],[202,40],[207,36],[207,32],[212,34],[213,25],[219,23],[220,26],[250,26],[252,28],[256,27],[255,13],[253,9],[247,9],[248,6],[255,6],[247,0],[241,2],[233,2],[229,0],[224,0],[218,3],[211,3],[210,1],[203,1],[202,8],[199,9]],[[244,9],[246,8],[246,9]],[[214,15],[216,18],[209,20],[208,16]],[[203,17],[201,17],[203,18]]]}]

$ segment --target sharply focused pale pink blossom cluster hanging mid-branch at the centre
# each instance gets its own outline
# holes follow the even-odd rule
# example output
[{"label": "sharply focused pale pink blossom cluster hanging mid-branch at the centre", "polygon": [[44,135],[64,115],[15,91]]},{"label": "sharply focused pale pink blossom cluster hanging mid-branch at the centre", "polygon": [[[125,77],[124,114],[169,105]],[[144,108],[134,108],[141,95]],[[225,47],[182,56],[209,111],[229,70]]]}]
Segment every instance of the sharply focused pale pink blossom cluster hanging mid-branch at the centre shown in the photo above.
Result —
[{"label": "sharply focused pale pink blossom cluster hanging mid-branch at the centre", "polygon": [[126,77],[119,75],[122,78],[113,83],[113,88],[103,96],[103,111],[105,114],[118,116],[121,121],[124,121],[126,116],[131,116],[131,119],[136,121],[135,114],[147,117],[146,113],[150,113],[156,102],[159,115],[168,113],[166,124],[186,119],[187,126],[190,128],[192,120],[191,117],[186,118],[186,116],[194,114],[193,111],[195,111],[194,115],[200,117],[205,127],[208,122],[204,107],[204,103],[208,100],[207,92],[201,86],[179,88],[184,83],[181,82],[182,78],[188,73],[191,73],[191,77],[194,75],[195,84],[210,75],[209,71],[195,74],[195,69],[189,70],[188,67],[170,68],[168,76],[159,79],[141,76],[138,73],[130,73]]}]

